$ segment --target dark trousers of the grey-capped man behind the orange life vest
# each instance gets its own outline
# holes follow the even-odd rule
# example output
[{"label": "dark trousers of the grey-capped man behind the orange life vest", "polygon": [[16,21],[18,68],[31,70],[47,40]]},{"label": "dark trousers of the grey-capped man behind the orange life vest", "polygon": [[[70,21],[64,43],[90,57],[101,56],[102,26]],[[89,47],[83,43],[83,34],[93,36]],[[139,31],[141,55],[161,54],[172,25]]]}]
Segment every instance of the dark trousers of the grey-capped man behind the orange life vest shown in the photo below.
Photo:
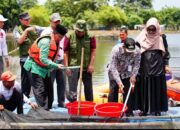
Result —
[{"label": "dark trousers of the grey-capped man behind the orange life vest", "polygon": [[[59,62],[63,64],[62,62]],[[55,69],[51,72],[51,80],[54,83],[56,79],[57,83],[57,97],[58,97],[58,104],[62,105],[65,102],[65,77],[64,72],[61,69]]]}]

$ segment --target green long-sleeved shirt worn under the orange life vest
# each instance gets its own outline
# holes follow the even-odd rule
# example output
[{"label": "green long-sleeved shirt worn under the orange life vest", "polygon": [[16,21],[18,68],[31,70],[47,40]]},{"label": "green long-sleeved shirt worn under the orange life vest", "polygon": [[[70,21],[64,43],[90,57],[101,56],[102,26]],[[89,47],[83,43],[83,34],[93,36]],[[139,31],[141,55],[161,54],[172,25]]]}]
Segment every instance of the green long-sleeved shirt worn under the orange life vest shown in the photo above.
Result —
[{"label": "green long-sleeved shirt worn under the orange life vest", "polygon": [[24,64],[24,68],[31,73],[38,74],[39,76],[45,78],[46,75],[50,75],[51,69],[57,69],[58,64],[48,59],[49,48],[50,48],[50,39],[42,38],[38,42],[38,47],[40,48],[40,61],[47,65],[47,67],[41,67],[32,58],[28,58]]}]

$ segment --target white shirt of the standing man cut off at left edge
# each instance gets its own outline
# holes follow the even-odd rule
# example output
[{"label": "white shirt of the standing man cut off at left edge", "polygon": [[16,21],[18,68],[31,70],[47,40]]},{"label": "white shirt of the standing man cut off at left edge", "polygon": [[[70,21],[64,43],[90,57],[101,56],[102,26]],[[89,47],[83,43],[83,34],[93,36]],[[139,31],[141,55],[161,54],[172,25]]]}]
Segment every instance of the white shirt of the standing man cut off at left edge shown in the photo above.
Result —
[{"label": "white shirt of the standing man cut off at left edge", "polygon": [[0,56],[8,56],[6,33],[3,29],[0,29]]}]

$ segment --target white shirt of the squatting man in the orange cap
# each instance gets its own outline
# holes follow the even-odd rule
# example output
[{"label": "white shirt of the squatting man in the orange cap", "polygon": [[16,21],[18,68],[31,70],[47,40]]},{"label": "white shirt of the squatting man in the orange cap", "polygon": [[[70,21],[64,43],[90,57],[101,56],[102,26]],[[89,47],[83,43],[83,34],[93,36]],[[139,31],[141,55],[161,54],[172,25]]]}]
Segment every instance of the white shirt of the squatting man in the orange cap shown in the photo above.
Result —
[{"label": "white shirt of the squatting man in the orange cap", "polygon": [[[0,95],[2,95],[5,100],[10,100],[11,96],[13,95],[13,90],[14,88],[18,91],[21,92],[21,87],[20,84],[15,81],[14,86],[11,89],[7,89],[4,87],[2,81],[0,81]],[[23,100],[25,103],[30,103],[31,101],[23,94]]]}]

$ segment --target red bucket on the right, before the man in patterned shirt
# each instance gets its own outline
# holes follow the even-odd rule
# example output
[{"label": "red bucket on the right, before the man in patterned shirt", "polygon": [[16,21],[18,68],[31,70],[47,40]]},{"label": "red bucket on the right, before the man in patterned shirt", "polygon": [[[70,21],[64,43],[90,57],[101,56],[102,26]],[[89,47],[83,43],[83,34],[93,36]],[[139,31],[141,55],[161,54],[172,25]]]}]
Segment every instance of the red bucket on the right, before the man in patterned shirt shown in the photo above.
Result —
[{"label": "red bucket on the right, before the man in patterned shirt", "polygon": [[[97,116],[104,116],[104,117],[120,117],[124,104],[110,102],[110,103],[103,103],[98,104],[95,106],[95,112]],[[125,111],[127,111],[127,107]]]}]

